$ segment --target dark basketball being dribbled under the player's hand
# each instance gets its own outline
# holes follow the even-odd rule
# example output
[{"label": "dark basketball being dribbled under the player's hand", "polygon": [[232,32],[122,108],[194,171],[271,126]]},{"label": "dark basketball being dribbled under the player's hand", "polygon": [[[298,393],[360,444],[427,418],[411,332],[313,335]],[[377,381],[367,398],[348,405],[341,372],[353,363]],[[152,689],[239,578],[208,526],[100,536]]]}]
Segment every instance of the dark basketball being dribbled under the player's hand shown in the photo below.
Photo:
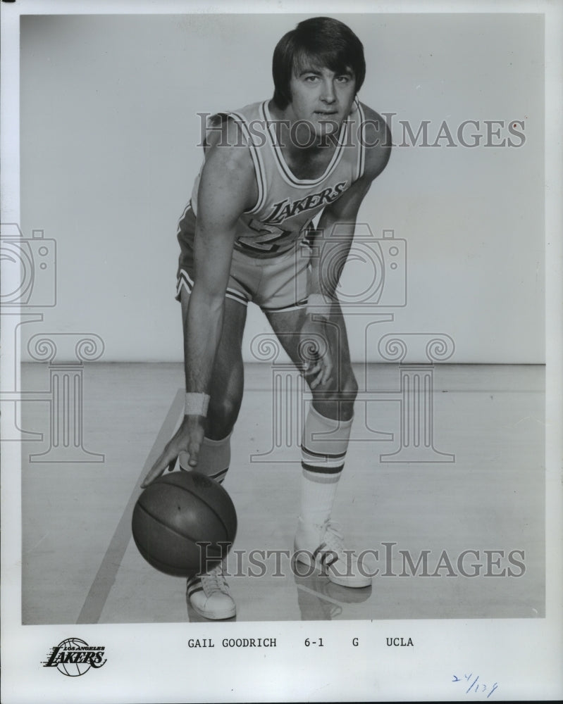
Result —
[{"label": "dark basketball being dribbled under the player's hand", "polygon": [[149,565],[174,577],[209,572],[230,550],[237,513],[227,491],[200,472],[171,472],[149,484],[132,516]]}]

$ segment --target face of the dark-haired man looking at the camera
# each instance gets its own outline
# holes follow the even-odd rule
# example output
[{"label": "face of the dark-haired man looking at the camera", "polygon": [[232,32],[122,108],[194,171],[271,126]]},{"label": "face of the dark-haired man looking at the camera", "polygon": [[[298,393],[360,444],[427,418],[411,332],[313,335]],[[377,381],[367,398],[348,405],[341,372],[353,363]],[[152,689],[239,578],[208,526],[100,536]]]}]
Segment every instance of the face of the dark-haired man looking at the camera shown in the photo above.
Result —
[{"label": "face of the dark-haired man looking at the camera", "polygon": [[335,73],[328,68],[304,65],[290,81],[292,100],[287,107],[291,120],[311,124],[317,136],[331,134],[349,115],[356,94],[352,70]]}]

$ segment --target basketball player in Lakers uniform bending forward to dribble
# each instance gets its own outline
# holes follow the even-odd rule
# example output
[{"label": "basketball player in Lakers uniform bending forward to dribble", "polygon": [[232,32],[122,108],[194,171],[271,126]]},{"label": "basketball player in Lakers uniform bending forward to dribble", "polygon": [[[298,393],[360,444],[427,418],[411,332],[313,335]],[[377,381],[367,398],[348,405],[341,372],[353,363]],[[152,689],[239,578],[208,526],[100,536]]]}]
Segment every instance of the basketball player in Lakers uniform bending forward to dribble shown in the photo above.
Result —
[{"label": "basketball player in Lakers uniform bending forward to dribble", "polygon": [[[357,394],[336,287],[359,206],[390,151],[385,122],[357,97],[365,70],[363,46],[349,27],[304,20],[274,51],[273,99],[209,122],[204,164],[178,228],[185,415],[142,484],[172,470],[178,456],[181,469],[224,479],[252,301],[304,370],[313,397],[295,549],[349,587],[371,579],[331,519]],[[315,354],[304,360],[307,347]],[[187,590],[204,617],[235,615],[220,567],[190,578]]]}]

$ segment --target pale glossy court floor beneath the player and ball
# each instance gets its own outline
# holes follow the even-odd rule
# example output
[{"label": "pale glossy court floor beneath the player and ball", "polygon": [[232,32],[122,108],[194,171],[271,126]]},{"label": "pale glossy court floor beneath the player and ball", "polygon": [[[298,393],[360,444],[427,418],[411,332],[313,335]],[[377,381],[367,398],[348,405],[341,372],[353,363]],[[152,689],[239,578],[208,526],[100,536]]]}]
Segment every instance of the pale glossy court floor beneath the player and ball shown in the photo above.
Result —
[{"label": "pale glossy court floor beneath the player and ball", "polygon": [[[400,447],[400,368],[357,367],[364,391],[334,516],[347,546],[377,551],[366,565],[379,572],[371,588],[353,590],[295,575],[285,553],[283,576],[266,555],[263,576],[242,576],[260,571],[250,551],[292,550],[302,420],[297,377],[247,365],[224,484],[239,519],[227,562],[237,620],[545,615],[544,368],[433,373],[433,443],[454,462],[390,463],[380,455]],[[23,365],[22,386],[49,389],[48,367]],[[22,404],[23,429],[44,434],[23,444],[23,623],[199,620],[185,580],[156,572],[130,535],[140,479],[180,419],[182,386],[181,365],[85,365],[83,444],[103,462],[30,458],[49,448],[49,403]]]}]

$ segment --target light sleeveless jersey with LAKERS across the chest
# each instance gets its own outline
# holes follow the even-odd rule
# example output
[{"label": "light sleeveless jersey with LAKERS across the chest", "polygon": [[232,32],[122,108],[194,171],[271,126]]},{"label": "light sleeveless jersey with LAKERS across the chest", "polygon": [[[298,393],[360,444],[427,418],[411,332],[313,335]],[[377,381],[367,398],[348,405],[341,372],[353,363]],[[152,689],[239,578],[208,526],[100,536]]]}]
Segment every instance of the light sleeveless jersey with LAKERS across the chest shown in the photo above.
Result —
[{"label": "light sleeveless jersey with LAKERS across the chest", "polygon": [[[235,249],[256,258],[279,256],[304,239],[311,220],[364,173],[364,110],[354,103],[342,123],[337,146],[325,172],[315,179],[298,179],[283,158],[268,101],[253,103],[228,113],[237,121],[247,144],[258,186],[258,199],[243,213],[237,225]],[[218,115],[208,120],[207,130]],[[191,206],[197,215],[197,193],[201,170],[194,182]],[[186,233],[187,234],[187,233]]]}]

